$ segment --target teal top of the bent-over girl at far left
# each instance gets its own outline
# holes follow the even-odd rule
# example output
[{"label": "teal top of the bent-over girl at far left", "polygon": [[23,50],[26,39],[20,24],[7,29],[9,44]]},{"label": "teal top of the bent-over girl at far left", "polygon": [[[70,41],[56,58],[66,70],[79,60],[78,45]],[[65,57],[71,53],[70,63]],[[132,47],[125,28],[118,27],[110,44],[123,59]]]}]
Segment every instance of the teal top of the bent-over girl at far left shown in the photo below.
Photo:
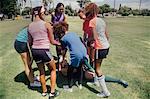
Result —
[{"label": "teal top of the bent-over girl at far left", "polygon": [[17,34],[16,40],[17,40],[17,41],[20,41],[20,42],[27,42],[27,40],[28,40],[27,28],[22,29],[22,30]]}]

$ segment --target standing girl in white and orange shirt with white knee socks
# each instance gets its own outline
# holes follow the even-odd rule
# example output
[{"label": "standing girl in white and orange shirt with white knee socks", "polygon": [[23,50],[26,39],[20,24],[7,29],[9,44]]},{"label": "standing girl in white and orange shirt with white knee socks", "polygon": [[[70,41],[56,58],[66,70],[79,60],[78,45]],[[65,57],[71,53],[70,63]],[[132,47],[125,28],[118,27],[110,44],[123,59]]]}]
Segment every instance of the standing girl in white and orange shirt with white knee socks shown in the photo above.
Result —
[{"label": "standing girl in white and orange shirt with white knee socks", "polygon": [[108,97],[110,96],[110,92],[108,91],[105,83],[105,76],[101,71],[101,64],[103,59],[108,55],[110,45],[106,23],[101,18],[97,18],[98,12],[98,6],[95,3],[90,3],[85,7],[85,16],[89,20],[89,27],[92,28],[92,35],[94,40],[95,71],[98,76],[97,79],[99,84],[102,88],[102,92],[97,94],[97,96]]}]

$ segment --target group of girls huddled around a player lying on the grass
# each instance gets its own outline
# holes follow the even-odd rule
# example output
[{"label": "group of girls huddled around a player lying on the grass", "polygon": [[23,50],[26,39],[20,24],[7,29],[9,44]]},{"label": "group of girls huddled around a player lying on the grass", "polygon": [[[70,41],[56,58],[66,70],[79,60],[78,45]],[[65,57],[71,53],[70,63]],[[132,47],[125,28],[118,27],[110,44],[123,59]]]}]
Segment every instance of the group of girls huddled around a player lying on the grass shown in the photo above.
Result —
[{"label": "group of girls huddled around a player lying on the grass", "polygon": [[[102,91],[97,96],[110,96],[110,92],[105,84],[105,76],[100,68],[102,60],[106,58],[109,51],[109,40],[105,22],[97,17],[98,6],[95,3],[89,3],[84,9],[79,11],[80,18],[84,20],[83,41],[76,33],[68,31],[69,25],[64,15],[64,5],[62,3],[57,4],[55,13],[52,14],[51,22],[44,21],[44,12],[43,6],[33,8],[32,23],[19,32],[14,44],[16,51],[21,55],[24,62],[25,73],[30,82],[29,86],[42,86],[43,96],[48,94],[48,90],[50,90],[49,97],[59,95],[59,92],[55,90],[56,64],[49,50],[51,43],[56,46],[59,71],[61,71],[61,65],[64,62],[65,53],[69,49],[70,64],[67,70],[67,77],[70,89],[72,89],[71,81],[74,69],[81,67],[81,61],[84,60],[87,70],[96,74],[95,77],[101,86]],[[30,49],[33,60],[38,66],[40,79],[33,75],[31,67],[33,61],[30,58]],[[88,58],[92,66],[88,64]],[[44,65],[50,71],[50,89],[46,87]]]}]

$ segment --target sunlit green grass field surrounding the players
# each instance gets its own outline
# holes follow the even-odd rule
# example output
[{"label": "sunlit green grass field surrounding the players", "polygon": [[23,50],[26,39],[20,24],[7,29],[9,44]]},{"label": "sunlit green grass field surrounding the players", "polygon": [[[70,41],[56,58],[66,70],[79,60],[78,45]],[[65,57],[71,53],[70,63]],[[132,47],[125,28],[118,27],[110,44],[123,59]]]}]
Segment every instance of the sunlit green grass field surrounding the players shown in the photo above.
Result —
[{"label": "sunlit green grass field surrounding the players", "polygon": [[[110,53],[102,64],[104,74],[129,83],[123,88],[107,82],[111,92],[109,99],[150,99],[150,17],[106,18],[110,34]],[[68,18],[70,31],[82,36],[82,21]],[[24,67],[13,47],[17,32],[30,21],[15,20],[0,22],[0,99],[44,99],[40,90],[31,90],[26,85]],[[56,53],[54,47],[52,53]],[[36,68],[36,65],[33,65]],[[35,71],[38,74],[38,71]],[[49,84],[49,76],[47,84]],[[63,81],[62,81],[63,82]],[[74,87],[73,93],[63,91],[57,99],[99,99],[91,85],[82,90]]]}]

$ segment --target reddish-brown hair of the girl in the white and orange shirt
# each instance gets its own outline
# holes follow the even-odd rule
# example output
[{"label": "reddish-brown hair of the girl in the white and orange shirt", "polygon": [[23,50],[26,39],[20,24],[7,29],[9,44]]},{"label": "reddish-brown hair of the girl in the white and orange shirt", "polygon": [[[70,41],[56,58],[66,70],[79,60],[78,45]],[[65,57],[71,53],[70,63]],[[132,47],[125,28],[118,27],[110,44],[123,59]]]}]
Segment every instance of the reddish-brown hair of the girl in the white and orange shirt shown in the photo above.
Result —
[{"label": "reddish-brown hair of the girl in the white and orange shirt", "polygon": [[85,16],[87,18],[93,18],[99,13],[99,8],[95,3],[90,3],[85,7]]}]

